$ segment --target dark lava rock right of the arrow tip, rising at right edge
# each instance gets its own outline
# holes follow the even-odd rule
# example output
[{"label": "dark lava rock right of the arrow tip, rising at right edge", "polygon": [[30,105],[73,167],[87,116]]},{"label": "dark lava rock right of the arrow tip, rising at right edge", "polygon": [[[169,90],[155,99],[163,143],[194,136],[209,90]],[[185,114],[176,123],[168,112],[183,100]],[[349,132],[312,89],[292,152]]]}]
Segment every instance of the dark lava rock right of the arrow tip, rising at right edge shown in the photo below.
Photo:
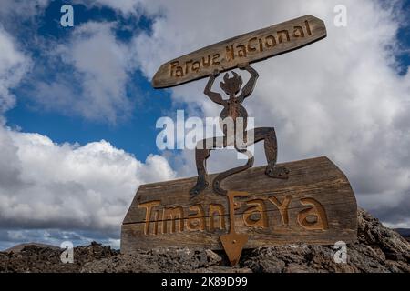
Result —
[{"label": "dark lava rock right of the arrow tip, rising at right edge", "polygon": [[242,258],[242,266],[268,273],[410,272],[410,244],[362,209],[357,235],[357,242],[347,246],[346,264],[335,263],[333,246],[300,244],[255,249]]}]

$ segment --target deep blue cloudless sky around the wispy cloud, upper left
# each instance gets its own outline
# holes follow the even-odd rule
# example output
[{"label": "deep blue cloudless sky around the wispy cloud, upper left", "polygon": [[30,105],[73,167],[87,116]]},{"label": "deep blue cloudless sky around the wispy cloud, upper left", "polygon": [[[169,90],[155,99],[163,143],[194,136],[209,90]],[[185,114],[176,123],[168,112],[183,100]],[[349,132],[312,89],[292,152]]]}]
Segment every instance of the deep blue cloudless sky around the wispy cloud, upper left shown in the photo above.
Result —
[{"label": "deep blue cloudless sky around the wispy cloud, upper left", "polygon": [[[46,74],[41,77],[53,78],[56,67],[47,64],[47,55],[42,48],[37,48],[38,37],[40,41],[64,44],[75,27],[60,25],[60,7],[67,1],[53,1],[47,6],[43,15],[36,15],[36,21],[30,25],[22,20],[16,26],[16,35],[26,38],[23,45],[29,54],[34,55],[36,65],[44,66]],[[124,18],[115,10],[108,7],[87,7],[73,5],[75,11],[75,26],[89,21],[118,22],[115,30],[119,42],[127,43],[132,35],[140,30],[149,31],[151,21],[144,15]],[[15,19],[17,22],[18,19]],[[11,24],[10,24],[11,25]],[[5,25],[7,26],[7,25]],[[15,26],[15,24],[13,24]],[[28,27],[27,27],[28,26]],[[27,37],[28,35],[28,37]],[[58,70],[69,71],[67,65],[61,65]],[[45,110],[44,106],[36,104],[30,95],[30,82],[36,79],[36,70],[27,75],[26,82],[14,89],[18,96],[15,108],[6,113],[7,125],[21,128],[24,132],[39,133],[49,136],[56,143],[79,143],[85,145],[96,140],[107,140],[113,146],[122,148],[132,153],[139,159],[144,159],[149,154],[156,154],[155,145],[158,130],[155,128],[157,119],[172,105],[169,93],[155,91],[150,86],[149,80],[135,70],[130,76],[127,95],[133,101],[131,114],[117,124],[107,123],[104,120],[85,120],[79,115],[56,113]],[[76,86],[75,84],[73,84]],[[138,89],[135,88],[138,85]]]}]

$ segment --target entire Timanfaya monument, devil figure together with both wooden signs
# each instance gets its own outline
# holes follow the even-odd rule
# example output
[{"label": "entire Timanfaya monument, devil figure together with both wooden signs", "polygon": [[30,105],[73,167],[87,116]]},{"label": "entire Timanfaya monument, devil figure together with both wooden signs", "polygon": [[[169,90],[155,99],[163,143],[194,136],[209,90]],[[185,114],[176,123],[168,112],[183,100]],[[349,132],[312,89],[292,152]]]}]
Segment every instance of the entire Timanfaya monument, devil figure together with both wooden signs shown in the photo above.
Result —
[{"label": "entire Timanfaya monument, devil figure together with both wooden signs", "polygon": [[[250,64],[324,37],[323,21],[305,15],[201,48],[160,66],[152,80],[154,88],[209,77],[204,94],[223,107],[223,135],[197,144],[196,178],[139,186],[122,224],[121,252],[153,246],[222,247],[233,266],[245,246],[297,242],[333,245],[356,239],[357,205],[343,172],[326,157],[278,166],[274,128],[247,130],[248,113],[243,106],[259,76]],[[241,76],[231,71],[237,68],[251,75],[245,85]],[[223,75],[220,82],[226,94],[222,96],[212,87],[216,78],[228,71],[231,74]],[[264,142],[267,166],[248,170],[254,162],[249,146],[260,141]],[[229,146],[247,156],[247,163],[209,176],[206,162],[211,151]]]}]

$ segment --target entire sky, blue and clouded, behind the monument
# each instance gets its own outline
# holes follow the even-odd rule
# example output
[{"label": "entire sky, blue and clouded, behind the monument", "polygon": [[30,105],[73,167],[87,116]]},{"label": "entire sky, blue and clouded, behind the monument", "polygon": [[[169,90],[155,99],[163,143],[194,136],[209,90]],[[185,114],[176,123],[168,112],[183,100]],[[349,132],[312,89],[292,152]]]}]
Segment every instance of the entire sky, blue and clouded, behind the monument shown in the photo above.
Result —
[{"label": "entire sky, blue and clouded, behind the monument", "polygon": [[[64,4],[74,7],[74,27],[60,25]],[[333,25],[339,4],[346,27]],[[360,206],[410,228],[410,0],[5,0],[0,249],[66,239],[118,247],[139,185],[196,174],[191,151],[157,148],[159,117],[220,114],[204,80],[154,90],[159,65],[306,14],[325,21],[328,37],[255,65],[250,116],[275,126],[280,161],[329,156]],[[215,154],[210,168],[236,162]]]}]

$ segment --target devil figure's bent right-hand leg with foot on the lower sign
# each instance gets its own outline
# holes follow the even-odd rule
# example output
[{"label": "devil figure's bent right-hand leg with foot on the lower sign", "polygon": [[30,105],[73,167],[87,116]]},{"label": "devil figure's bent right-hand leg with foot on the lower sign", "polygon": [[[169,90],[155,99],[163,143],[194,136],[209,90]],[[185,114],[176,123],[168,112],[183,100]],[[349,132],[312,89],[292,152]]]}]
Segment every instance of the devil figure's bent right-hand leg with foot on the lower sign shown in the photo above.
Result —
[{"label": "devil figure's bent right-hand leg with foot on the lower sign", "polygon": [[265,174],[272,178],[287,179],[289,170],[283,166],[276,166],[278,157],[278,144],[276,141],[275,129],[273,127],[261,127],[254,129],[255,144],[264,140],[265,156],[268,161]]}]

